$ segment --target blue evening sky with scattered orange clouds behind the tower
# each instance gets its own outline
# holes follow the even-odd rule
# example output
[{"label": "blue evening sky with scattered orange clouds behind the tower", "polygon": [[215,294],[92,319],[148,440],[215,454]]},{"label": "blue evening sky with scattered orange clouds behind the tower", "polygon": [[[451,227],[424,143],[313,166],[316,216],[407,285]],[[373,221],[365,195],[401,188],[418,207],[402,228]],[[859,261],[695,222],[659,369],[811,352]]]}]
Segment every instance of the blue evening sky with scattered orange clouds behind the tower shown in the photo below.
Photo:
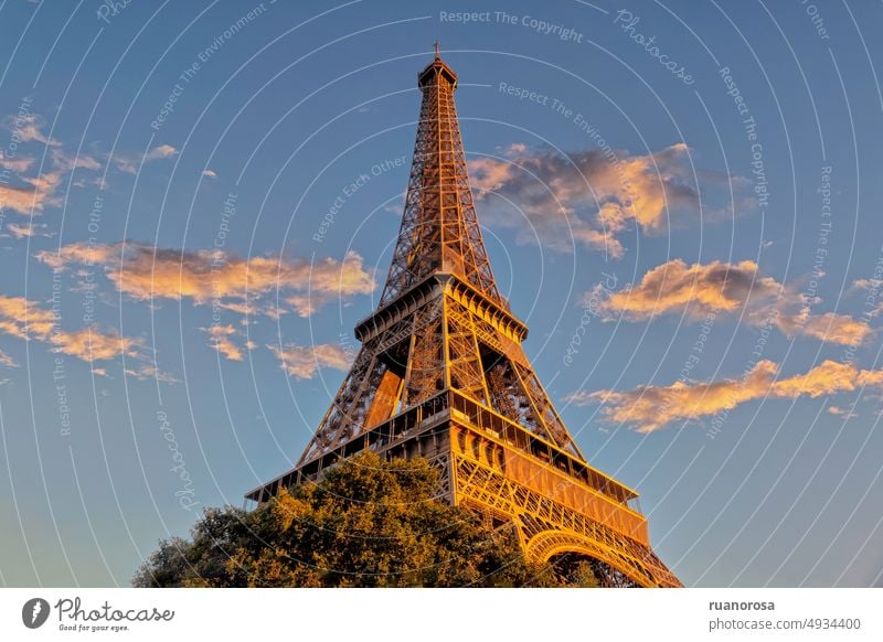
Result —
[{"label": "blue evening sky with scattered orange clouds behind the tower", "polygon": [[528,355],[657,553],[881,582],[883,9],[465,10],[0,2],[0,582],[126,585],[290,468],[380,296],[436,39]]}]

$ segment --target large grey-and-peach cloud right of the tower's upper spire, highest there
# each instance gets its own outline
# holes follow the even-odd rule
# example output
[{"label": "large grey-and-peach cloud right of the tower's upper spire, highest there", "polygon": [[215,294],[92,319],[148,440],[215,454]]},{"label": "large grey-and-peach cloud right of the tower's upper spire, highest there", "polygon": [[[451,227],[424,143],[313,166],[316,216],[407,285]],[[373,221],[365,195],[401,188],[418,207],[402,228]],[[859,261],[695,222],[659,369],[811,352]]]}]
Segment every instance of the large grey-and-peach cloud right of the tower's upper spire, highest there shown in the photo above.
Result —
[{"label": "large grey-and-peach cloud right of the tower's upper spire, highest there", "polygon": [[[493,207],[500,202],[490,199],[496,194],[522,208],[526,221],[497,217],[520,227],[520,240],[536,234],[553,249],[571,252],[584,245],[620,257],[624,248],[617,235],[631,223],[645,232],[661,232],[670,211],[700,212],[688,151],[684,143],[675,143],[643,156],[609,147],[563,156],[514,143],[503,159],[469,161],[469,171],[477,200]],[[702,172],[702,179],[735,185],[740,192],[744,184],[743,179],[713,172]],[[752,203],[746,199],[740,206]]]}]

